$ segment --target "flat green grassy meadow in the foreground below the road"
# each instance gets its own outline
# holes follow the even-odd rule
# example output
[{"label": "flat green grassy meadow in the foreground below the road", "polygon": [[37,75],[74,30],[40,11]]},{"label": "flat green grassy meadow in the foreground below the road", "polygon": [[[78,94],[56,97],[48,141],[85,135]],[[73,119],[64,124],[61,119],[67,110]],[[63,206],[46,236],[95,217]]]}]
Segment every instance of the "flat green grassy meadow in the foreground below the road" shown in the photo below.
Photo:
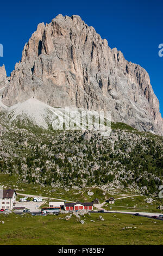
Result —
[{"label": "flat green grassy meadow in the foreground below the road", "polygon": [[[163,222],[122,214],[98,214],[69,221],[60,216],[0,215],[0,245],[162,245]],[[95,222],[91,222],[94,220]],[[133,227],[132,229],[122,229]],[[136,228],[134,228],[136,227]]]}]

